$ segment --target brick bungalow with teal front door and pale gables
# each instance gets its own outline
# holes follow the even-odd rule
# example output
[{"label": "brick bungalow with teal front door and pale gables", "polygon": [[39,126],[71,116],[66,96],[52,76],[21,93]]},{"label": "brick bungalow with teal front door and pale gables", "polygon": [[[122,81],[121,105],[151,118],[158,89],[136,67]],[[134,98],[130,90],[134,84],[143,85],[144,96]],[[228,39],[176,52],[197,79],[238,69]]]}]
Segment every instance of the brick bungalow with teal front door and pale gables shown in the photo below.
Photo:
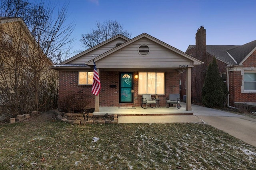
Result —
[{"label": "brick bungalow with teal front door and pale gables", "polygon": [[[100,76],[101,91],[91,93],[93,60]],[[160,106],[166,96],[179,93],[179,72],[201,61],[142,33],[133,39],[116,35],[63,63],[51,66],[59,70],[59,99],[68,94],[84,92],[91,100],[88,107],[98,112],[103,106],[141,106],[142,94],[158,94]],[[187,95],[190,96],[190,86]],[[192,111],[187,102],[187,111]]]}]

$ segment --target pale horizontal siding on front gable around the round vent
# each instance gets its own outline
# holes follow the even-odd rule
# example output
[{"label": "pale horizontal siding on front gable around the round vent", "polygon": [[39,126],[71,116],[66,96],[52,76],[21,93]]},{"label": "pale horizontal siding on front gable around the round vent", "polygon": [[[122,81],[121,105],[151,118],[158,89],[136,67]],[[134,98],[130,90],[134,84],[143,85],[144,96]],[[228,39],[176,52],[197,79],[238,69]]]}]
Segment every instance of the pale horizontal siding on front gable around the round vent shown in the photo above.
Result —
[{"label": "pale horizontal siding on front gable around the round vent", "polygon": [[[149,47],[147,55],[138,52],[142,44]],[[97,67],[101,68],[178,68],[180,65],[193,67],[192,61],[147,38],[139,39],[97,63]]]}]

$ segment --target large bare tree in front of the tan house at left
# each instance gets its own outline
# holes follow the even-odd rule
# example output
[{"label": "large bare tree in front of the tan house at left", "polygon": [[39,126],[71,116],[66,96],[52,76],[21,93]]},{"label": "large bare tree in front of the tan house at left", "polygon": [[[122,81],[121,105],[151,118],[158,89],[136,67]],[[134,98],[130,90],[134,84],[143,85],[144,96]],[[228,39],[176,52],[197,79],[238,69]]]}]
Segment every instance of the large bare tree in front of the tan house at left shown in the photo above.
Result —
[{"label": "large bare tree in front of the tan house at left", "polygon": [[[0,68],[0,75],[2,75],[0,81],[5,82],[0,88],[0,94],[4,94],[5,99],[9,99],[9,101],[16,101],[11,102],[16,105],[14,106],[16,111],[21,104],[25,103],[28,103],[28,106],[20,108],[23,112],[31,111],[31,109],[46,109],[46,105],[50,107],[49,104],[53,103],[53,101],[49,101],[52,98],[52,93],[56,96],[58,94],[58,74],[48,67],[61,61],[63,52],[71,49],[70,43],[73,41],[70,35],[74,30],[74,25],[66,23],[68,4],[64,5],[54,18],[53,12],[56,9],[50,2],[48,4],[45,4],[44,1],[35,3],[31,4],[28,0],[1,1],[1,17],[21,17],[30,30],[29,34],[33,36],[33,43],[36,44],[30,45],[30,40],[16,32],[10,35],[10,37],[19,37],[15,43],[16,47],[10,47],[7,50],[6,43],[2,43],[0,47],[2,50],[1,66],[3,66]],[[14,30],[14,27],[10,27],[10,30],[12,29]],[[24,52],[26,57],[24,57]],[[10,74],[6,74],[6,72]],[[12,86],[10,86],[11,82],[13,82]],[[49,89],[50,87],[54,89]],[[6,93],[6,89],[9,89],[8,93]],[[14,91],[16,91],[16,98],[13,96]],[[26,96],[24,92],[30,96]],[[17,96],[24,98],[18,101]],[[56,96],[54,96],[55,103]],[[18,102],[20,103],[18,104]],[[8,104],[8,100],[5,100],[4,103]]]}]

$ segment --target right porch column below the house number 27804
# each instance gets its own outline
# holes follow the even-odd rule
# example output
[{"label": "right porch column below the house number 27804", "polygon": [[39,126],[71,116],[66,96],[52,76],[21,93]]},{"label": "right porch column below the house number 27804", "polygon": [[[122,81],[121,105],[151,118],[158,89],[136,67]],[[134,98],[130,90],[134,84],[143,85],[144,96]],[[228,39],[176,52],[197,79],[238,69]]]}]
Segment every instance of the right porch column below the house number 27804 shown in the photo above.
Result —
[{"label": "right porch column below the house number 27804", "polygon": [[186,80],[186,111],[191,111],[191,68],[187,68]]}]

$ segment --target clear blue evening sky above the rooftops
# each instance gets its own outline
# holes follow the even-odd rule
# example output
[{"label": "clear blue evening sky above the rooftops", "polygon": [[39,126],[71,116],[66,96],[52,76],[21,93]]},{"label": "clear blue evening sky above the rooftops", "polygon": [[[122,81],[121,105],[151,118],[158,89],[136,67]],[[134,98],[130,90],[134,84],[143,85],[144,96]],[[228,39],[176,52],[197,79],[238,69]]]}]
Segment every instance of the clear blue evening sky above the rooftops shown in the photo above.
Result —
[{"label": "clear blue evening sky above the rooftops", "polygon": [[[204,25],[207,45],[243,45],[256,39],[256,0],[56,0],[69,3],[68,20],[76,50],[83,50],[82,33],[96,21],[116,20],[132,37],[148,33],[181,50],[195,44]],[[84,51],[84,50],[83,50]]]}]

